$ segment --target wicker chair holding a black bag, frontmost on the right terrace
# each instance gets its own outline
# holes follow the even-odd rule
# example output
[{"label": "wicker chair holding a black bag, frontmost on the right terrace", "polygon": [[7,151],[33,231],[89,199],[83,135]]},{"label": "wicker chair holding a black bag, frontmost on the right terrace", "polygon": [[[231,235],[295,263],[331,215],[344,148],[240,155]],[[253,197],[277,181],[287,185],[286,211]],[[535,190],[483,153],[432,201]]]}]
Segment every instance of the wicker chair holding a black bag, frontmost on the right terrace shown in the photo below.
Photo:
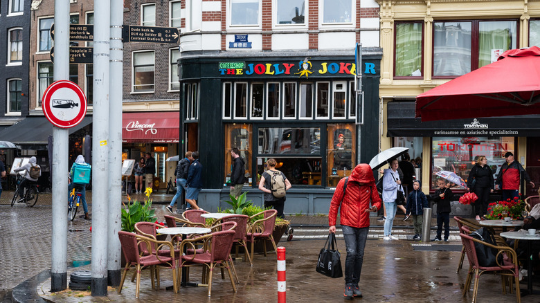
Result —
[{"label": "wicker chair holding a black bag, frontmost on the right terrace", "polygon": [[[465,228],[464,231],[466,232]],[[521,293],[519,290],[519,263],[516,252],[508,246],[494,246],[484,241],[474,239],[473,237],[466,235],[465,232],[461,232],[460,237],[463,247],[465,248],[465,252],[467,253],[467,259],[469,260],[469,270],[467,271],[467,279],[465,281],[465,286],[463,287],[462,296],[465,297],[467,295],[467,292],[471,288],[471,282],[474,275],[475,280],[472,302],[476,302],[476,295],[478,295],[478,286],[480,286],[480,276],[484,273],[499,273],[501,275],[501,283],[503,285],[504,295],[506,295],[506,277],[514,277],[514,282],[516,284],[517,302],[521,303]],[[484,267],[478,264],[478,257],[476,255],[476,248],[474,247],[474,242],[478,242],[480,244],[498,250],[496,266]],[[503,264],[499,264],[498,256],[503,253],[505,253],[507,259],[503,261]],[[510,283],[510,285],[508,286],[510,287],[510,291],[512,292],[512,283]]]}]

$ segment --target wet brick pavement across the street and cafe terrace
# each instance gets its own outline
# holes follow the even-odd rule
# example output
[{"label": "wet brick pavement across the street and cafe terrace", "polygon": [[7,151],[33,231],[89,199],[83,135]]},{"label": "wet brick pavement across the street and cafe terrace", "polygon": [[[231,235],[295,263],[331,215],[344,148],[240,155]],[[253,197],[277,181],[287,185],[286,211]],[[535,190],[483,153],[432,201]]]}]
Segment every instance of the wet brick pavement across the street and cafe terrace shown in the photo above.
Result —
[{"label": "wet brick pavement across the street and cafe terrace", "polygon": [[[8,291],[27,279],[34,277],[43,270],[51,267],[51,207],[46,199],[40,201],[34,208],[17,206],[11,208],[6,200],[12,194],[3,192],[0,200],[0,299],[1,292]],[[44,194],[43,196],[46,196]],[[50,198],[50,195],[49,195]],[[90,198],[91,199],[91,198]],[[166,200],[170,197],[155,197]],[[49,199],[50,200],[50,199]],[[91,201],[91,200],[90,200]],[[156,215],[163,218],[165,205],[154,203]],[[90,206],[91,210],[91,206]],[[292,216],[291,223],[296,225],[293,241],[280,241],[278,246],[287,248],[287,302],[341,302],[343,300],[343,279],[330,279],[315,272],[314,267],[318,250],[324,244],[327,229],[325,217]],[[467,259],[465,268],[456,273],[460,251],[458,248],[457,230],[451,232],[451,241],[442,244],[431,243],[434,247],[453,248],[455,251],[415,251],[412,241],[411,222],[403,222],[399,216],[397,224],[403,227],[395,228],[397,241],[381,239],[382,224],[372,218],[370,238],[366,244],[360,288],[363,291],[364,302],[471,302],[471,293],[461,297],[461,291],[467,277]],[[69,223],[68,232],[68,262],[88,261],[91,259],[91,221],[75,219]],[[432,223],[433,226],[433,223]],[[342,263],[345,262],[345,244],[338,235],[338,246],[342,252]],[[431,231],[433,238],[434,230]],[[205,287],[181,288],[180,293],[165,291],[165,286],[172,285],[170,270],[161,270],[161,288],[159,291],[150,289],[150,278],[143,274],[141,281],[141,297],[138,302],[277,302],[276,255],[268,257],[255,255],[253,267],[240,259],[235,261],[240,284],[234,294],[226,275],[222,279],[217,273],[213,275],[212,297],[206,295]],[[75,270],[89,270],[90,265],[69,268],[69,273]],[[192,268],[190,281],[200,280],[199,268]],[[68,273],[68,275],[69,275]],[[120,295],[110,289],[108,297],[91,297],[88,292],[65,291],[62,293],[47,293],[50,280],[42,275],[38,291],[51,302],[133,302],[135,284],[125,282],[125,288]],[[521,282],[525,288],[526,281]],[[534,280],[534,287],[540,288],[540,281]],[[2,300],[0,300],[2,302]],[[495,275],[483,275],[480,278],[478,302],[516,302],[516,295],[502,295],[501,279]],[[540,295],[522,297],[523,303],[540,302]]]}]

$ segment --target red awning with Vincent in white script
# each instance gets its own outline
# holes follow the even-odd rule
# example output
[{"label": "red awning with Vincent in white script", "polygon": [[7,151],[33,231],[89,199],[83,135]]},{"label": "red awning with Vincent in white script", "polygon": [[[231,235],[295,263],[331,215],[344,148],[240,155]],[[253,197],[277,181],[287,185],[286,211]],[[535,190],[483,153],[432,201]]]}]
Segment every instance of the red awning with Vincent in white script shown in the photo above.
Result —
[{"label": "red awning with Vincent in white script", "polygon": [[178,111],[123,113],[122,117],[123,143],[179,143]]}]

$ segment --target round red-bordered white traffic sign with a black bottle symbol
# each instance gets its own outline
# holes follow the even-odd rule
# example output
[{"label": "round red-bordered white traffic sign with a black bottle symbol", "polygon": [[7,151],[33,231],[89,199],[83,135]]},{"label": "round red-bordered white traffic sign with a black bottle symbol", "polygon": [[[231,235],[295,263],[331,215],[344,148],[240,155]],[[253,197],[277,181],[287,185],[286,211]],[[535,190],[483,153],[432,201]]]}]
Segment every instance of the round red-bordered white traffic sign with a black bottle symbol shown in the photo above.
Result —
[{"label": "round red-bordered white traffic sign with a black bottle symbol", "polygon": [[87,114],[87,97],[77,84],[68,80],[49,85],[42,100],[43,113],[57,127],[74,127]]}]

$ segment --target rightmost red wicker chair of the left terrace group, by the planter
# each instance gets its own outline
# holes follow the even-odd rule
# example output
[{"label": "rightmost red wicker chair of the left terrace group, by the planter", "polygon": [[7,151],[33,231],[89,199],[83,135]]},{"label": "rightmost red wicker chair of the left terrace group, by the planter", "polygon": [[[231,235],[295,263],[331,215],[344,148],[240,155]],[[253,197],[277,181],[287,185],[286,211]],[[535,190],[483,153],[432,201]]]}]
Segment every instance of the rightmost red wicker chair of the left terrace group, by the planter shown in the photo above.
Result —
[{"label": "rightmost red wicker chair of the left terrace group, by the planter", "polygon": [[273,228],[276,225],[276,215],[278,214],[277,210],[264,210],[263,212],[259,212],[258,214],[253,214],[253,216],[250,217],[250,220],[258,217],[260,215],[263,215],[263,219],[257,220],[253,222],[251,225],[251,228],[246,233],[246,240],[251,242],[251,260],[253,261],[253,252],[255,250],[255,241],[256,240],[263,240],[264,245],[264,257],[267,256],[267,241],[266,239],[269,239],[272,242],[274,252],[278,252],[278,248],[276,248],[276,241],[273,241]]}]

